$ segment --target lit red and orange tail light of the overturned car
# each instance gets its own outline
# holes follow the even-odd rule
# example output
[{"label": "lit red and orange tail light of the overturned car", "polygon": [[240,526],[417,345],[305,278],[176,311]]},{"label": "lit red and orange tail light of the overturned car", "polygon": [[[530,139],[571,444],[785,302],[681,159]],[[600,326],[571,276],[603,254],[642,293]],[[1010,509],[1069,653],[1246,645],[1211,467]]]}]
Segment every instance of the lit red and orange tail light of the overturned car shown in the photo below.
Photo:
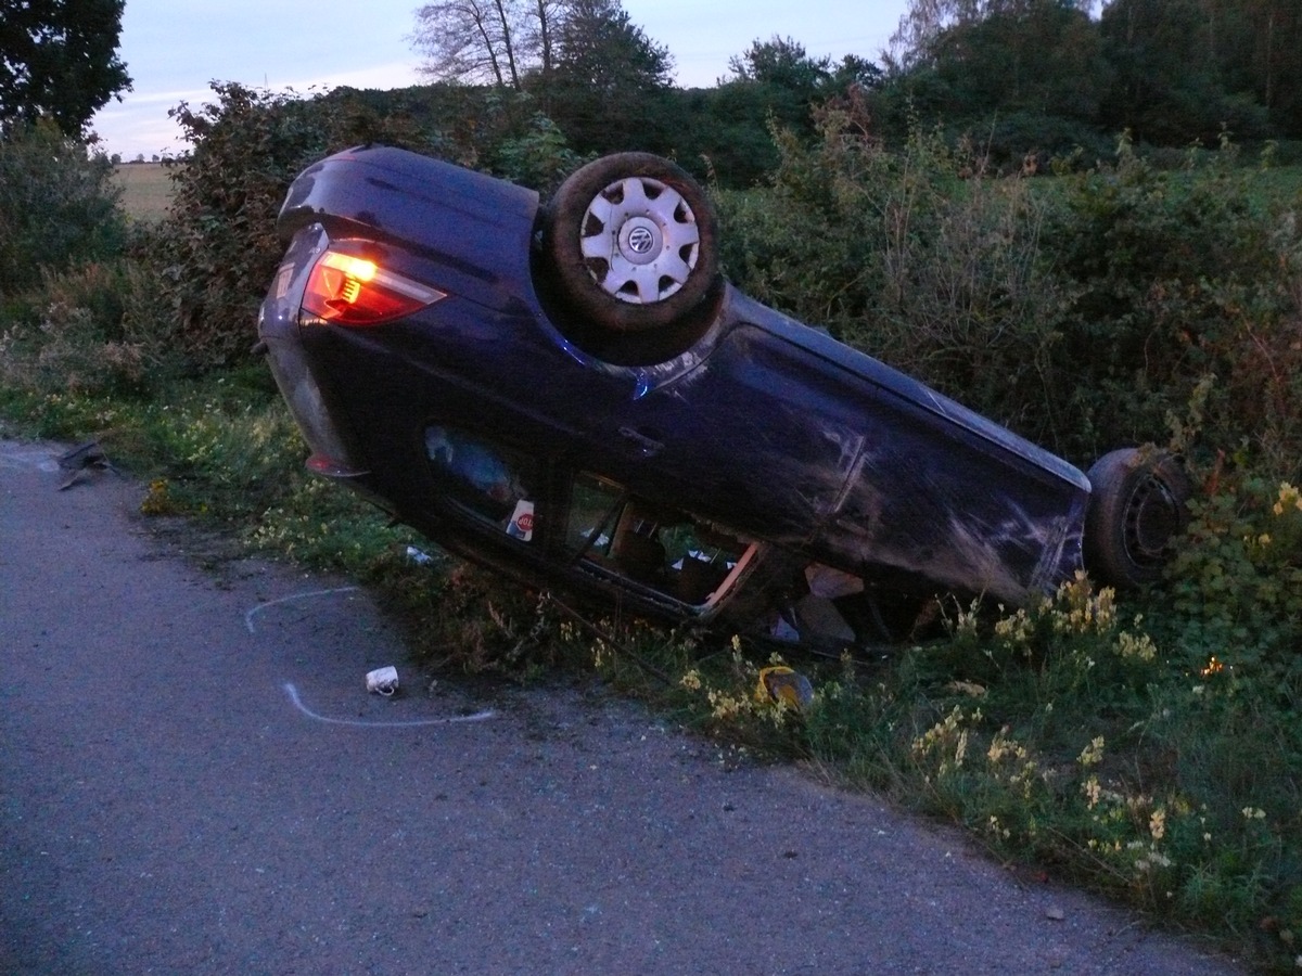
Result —
[{"label": "lit red and orange tail light of the overturned car", "polygon": [[307,278],[303,311],[340,325],[379,325],[447,297],[367,258],[326,251]]}]

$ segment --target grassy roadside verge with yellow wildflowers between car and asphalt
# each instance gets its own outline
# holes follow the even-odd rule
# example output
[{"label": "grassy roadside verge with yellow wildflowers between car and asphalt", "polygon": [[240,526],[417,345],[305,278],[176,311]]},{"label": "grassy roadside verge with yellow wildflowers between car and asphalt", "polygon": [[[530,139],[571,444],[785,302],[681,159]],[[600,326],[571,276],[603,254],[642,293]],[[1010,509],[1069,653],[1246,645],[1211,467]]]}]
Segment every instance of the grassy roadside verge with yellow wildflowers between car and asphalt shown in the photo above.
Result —
[{"label": "grassy roadside verge with yellow wildflowers between car and asphalt", "polygon": [[[7,385],[0,414],[7,436],[98,437],[148,485],[146,515],[190,517],[251,550],[365,580],[411,622],[413,652],[431,666],[518,679],[595,673],[703,734],[961,824],[995,858],[1272,968],[1298,958],[1294,669],[1213,660],[1217,625],[1191,626],[1178,582],[1147,600],[1118,601],[1082,578],[1025,610],[945,606],[948,636],[928,645],[790,661],[815,687],[796,711],[756,696],[759,668],[773,661],[727,634],[585,618],[450,560],[415,565],[408,547],[426,543],[302,472],[302,445],[260,364],[147,402]],[[1262,492],[1272,540],[1236,543],[1245,526],[1220,535],[1242,547],[1221,554],[1241,561],[1240,582],[1275,539],[1302,537],[1298,493]],[[1202,513],[1202,530],[1213,517]],[[1187,553],[1182,570],[1211,571]],[[1262,636],[1242,623],[1225,639],[1247,648]]]}]

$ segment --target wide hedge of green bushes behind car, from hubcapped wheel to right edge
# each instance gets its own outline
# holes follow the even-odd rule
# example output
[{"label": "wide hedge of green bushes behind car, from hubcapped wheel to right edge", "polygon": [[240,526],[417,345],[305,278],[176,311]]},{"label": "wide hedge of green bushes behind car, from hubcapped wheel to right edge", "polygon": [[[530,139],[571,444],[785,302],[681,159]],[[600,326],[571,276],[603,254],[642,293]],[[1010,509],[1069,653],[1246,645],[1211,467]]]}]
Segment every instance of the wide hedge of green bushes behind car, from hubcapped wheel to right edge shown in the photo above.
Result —
[{"label": "wide hedge of green bushes behind car, from hubcapped wheel to right edge", "polygon": [[719,194],[725,267],[760,301],[1082,465],[1159,437],[1215,375],[1204,455],[1246,441],[1292,474],[1295,204],[1250,194],[1229,143],[1172,173],[1124,142],[1043,191],[936,131],[888,151],[853,103],[779,147],[768,190]]}]

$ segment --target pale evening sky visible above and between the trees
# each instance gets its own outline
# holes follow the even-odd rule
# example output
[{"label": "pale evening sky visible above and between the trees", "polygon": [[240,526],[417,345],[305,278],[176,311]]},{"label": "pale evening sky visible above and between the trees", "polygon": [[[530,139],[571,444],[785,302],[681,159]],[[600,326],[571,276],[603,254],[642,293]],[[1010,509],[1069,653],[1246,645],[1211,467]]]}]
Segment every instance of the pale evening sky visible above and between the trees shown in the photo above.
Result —
[{"label": "pale evening sky visible above and between the trees", "polygon": [[[133,90],[91,120],[122,159],[185,151],[168,117],[215,99],[210,83],[315,92],[422,83],[411,49],[418,0],[126,0],[118,56]],[[673,56],[680,87],[708,87],[755,40],[792,38],[814,57],[878,60],[909,0],[624,0],[633,23]]]}]

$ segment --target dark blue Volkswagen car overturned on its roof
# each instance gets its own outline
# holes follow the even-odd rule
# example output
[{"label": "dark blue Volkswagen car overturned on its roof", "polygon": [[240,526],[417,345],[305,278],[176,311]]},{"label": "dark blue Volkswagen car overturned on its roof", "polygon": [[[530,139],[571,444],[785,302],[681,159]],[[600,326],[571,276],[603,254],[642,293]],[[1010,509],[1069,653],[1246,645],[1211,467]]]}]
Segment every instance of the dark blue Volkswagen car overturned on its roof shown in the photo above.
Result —
[{"label": "dark blue Volkswagen car overturned on its roof", "polygon": [[547,203],[396,148],[303,172],[259,316],[309,467],[530,586],[814,643],[1161,570],[1172,458],[1065,461],[741,294],[646,154]]}]

